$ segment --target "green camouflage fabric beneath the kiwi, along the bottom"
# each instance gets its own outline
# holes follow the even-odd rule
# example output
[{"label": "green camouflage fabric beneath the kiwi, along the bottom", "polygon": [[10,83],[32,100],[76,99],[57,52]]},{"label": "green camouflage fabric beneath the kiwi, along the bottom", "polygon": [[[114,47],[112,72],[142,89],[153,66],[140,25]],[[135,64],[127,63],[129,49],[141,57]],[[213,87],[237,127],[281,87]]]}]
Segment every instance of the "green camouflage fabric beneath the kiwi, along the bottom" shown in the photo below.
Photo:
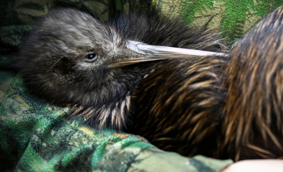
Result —
[{"label": "green camouflage fabric beneath the kiwi, along the bottom", "polygon": [[72,109],[31,96],[20,76],[1,71],[0,165],[6,171],[216,172],[232,163],[185,158],[150,145],[140,136],[98,131],[68,120]]}]

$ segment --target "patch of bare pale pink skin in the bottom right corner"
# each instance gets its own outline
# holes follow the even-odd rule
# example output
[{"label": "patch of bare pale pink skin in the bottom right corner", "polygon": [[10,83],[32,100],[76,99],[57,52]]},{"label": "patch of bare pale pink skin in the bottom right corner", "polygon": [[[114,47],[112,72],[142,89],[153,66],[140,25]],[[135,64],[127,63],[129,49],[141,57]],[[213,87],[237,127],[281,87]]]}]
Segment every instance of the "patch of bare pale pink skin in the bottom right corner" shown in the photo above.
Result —
[{"label": "patch of bare pale pink skin in the bottom right corner", "polygon": [[220,172],[282,172],[283,160],[244,160],[231,164]]}]

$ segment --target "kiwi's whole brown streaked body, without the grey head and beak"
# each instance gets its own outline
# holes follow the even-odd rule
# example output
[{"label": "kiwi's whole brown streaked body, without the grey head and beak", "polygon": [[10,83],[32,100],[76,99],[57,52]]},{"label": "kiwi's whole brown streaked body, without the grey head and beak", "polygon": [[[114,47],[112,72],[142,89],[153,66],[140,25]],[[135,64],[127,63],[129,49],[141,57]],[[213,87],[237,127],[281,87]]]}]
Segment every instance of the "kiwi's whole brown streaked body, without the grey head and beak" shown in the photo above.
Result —
[{"label": "kiwi's whole brown streaked body, without the grey head and beak", "polygon": [[232,49],[158,64],[133,92],[134,133],[185,156],[283,158],[283,6]]}]

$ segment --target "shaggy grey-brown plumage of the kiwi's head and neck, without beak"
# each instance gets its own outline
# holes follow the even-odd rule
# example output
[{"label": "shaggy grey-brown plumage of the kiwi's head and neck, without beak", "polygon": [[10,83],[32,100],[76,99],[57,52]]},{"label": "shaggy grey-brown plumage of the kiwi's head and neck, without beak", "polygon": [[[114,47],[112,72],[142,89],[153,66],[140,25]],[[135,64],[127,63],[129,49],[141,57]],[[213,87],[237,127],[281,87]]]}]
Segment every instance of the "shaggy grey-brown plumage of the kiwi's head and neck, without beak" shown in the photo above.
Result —
[{"label": "shaggy grey-brown plumage of the kiwi's head and neck, without beak", "polygon": [[53,104],[75,106],[73,115],[83,115],[92,125],[123,129],[134,107],[133,90],[158,64],[109,68],[107,64],[113,60],[131,57],[127,41],[226,50],[219,31],[199,30],[180,18],[150,14],[131,11],[103,23],[78,10],[53,10],[35,24],[16,60],[17,68],[31,93]]}]

